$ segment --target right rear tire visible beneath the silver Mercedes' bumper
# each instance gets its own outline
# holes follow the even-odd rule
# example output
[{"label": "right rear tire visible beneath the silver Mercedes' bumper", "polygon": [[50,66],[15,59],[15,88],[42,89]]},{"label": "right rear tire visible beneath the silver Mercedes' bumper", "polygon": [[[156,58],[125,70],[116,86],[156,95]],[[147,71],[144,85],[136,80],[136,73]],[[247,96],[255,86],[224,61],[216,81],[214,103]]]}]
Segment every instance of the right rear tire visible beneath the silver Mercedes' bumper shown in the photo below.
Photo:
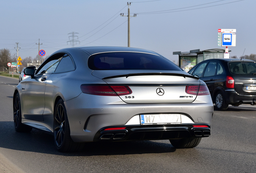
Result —
[{"label": "right rear tire visible beneath the silver Mercedes' bumper", "polygon": [[178,149],[194,148],[196,147],[202,138],[182,138],[182,139],[170,139],[171,145]]}]

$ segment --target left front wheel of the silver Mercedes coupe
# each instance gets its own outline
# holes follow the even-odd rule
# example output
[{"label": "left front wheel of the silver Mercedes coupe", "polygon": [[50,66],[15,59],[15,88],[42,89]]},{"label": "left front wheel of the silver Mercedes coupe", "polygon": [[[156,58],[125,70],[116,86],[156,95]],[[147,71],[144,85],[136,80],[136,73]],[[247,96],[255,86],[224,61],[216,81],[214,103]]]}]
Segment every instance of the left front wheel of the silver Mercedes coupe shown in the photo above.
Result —
[{"label": "left front wheel of the silver Mercedes coupe", "polygon": [[32,130],[32,127],[21,123],[21,100],[19,93],[13,99],[13,121],[15,131],[17,132],[30,132]]}]

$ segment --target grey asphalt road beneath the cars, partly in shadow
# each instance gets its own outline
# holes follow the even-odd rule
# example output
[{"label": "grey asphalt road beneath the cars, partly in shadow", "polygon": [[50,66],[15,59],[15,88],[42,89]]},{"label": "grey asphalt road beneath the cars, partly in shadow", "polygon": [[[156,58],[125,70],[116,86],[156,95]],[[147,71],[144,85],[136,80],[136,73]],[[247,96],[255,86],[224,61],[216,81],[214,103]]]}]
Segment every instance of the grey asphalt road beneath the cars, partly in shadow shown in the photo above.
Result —
[{"label": "grey asphalt road beneath the cars, partly in shadow", "polygon": [[12,95],[19,80],[0,76],[0,155],[26,173],[254,173],[256,106],[215,111],[211,136],[193,149],[168,140],[88,143],[79,153],[60,153],[52,135],[13,127]]}]

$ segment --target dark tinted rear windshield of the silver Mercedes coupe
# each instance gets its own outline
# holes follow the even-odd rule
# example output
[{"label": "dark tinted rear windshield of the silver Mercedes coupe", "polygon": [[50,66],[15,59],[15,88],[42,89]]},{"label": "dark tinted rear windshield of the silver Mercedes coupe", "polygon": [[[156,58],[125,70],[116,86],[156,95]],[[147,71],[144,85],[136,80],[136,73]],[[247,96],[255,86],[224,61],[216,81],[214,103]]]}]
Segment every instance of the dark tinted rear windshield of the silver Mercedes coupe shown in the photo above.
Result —
[{"label": "dark tinted rear windshield of the silver Mercedes coupe", "polygon": [[170,60],[155,54],[139,52],[107,52],[89,57],[92,70],[175,70],[180,67]]}]

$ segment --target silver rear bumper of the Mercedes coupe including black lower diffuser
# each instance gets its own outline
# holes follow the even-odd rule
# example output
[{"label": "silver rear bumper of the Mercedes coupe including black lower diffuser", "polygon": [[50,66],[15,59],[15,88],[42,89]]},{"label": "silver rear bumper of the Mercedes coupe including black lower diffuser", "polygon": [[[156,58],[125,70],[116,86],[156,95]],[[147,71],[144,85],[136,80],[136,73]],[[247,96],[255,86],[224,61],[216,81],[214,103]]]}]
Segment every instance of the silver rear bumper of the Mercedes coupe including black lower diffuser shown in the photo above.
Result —
[{"label": "silver rear bumper of the Mercedes coupe including black lower diffuser", "polygon": [[[213,103],[209,100],[211,101],[211,96],[205,95],[197,97],[193,103],[186,104],[127,104],[120,101],[119,97],[104,99],[101,96],[82,94],[64,104],[73,141],[92,142],[105,139],[111,141],[196,137],[192,132],[192,125],[204,124],[209,125],[209,128],[211,126]],[[140,125],[141,114],[180,114],[182,123]],[[126,127],[126,129],[104,131],[109,127]],[[210,132],[204,134],[201,131],[198,134],[198,137],[206,137]]]}]

